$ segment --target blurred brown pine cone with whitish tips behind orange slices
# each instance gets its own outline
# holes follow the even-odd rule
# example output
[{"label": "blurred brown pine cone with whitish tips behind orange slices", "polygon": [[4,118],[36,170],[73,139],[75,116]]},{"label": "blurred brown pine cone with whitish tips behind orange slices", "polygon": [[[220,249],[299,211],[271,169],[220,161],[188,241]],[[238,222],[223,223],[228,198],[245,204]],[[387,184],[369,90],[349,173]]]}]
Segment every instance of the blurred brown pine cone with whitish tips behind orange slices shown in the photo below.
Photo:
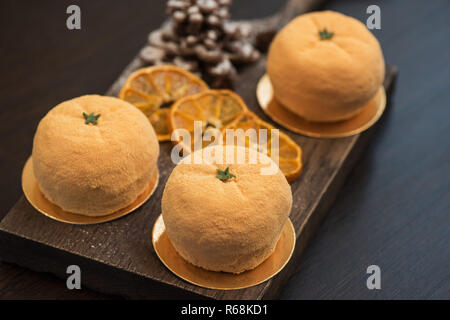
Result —
[{"label": "blurred brown pine cone with whitish tips behind orange slices", "polygon": [[231,0],[169,0],[170,23],[141,51],[148,64],[173,63],[201,73],[213,87],[230,86],[236,65],[259,59],[249,25],[230,22]]}]

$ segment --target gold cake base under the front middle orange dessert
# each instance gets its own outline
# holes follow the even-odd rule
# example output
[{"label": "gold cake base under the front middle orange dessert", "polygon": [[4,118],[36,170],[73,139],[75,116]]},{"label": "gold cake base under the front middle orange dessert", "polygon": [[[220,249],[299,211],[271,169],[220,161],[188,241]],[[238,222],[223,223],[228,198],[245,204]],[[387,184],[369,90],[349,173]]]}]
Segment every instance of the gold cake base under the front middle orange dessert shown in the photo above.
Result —
[{"label": "gold cake base under the front middle orange dessert", "polygon": [[280,272],[294,252],[295,230],[288,219],[273,254],[255,269],[240,274],[208,271],[184,260],[167,236],[162,215],[153,226],[152,242],[162,263],[181,279],[209,289],[235,290],[260,284]]}]

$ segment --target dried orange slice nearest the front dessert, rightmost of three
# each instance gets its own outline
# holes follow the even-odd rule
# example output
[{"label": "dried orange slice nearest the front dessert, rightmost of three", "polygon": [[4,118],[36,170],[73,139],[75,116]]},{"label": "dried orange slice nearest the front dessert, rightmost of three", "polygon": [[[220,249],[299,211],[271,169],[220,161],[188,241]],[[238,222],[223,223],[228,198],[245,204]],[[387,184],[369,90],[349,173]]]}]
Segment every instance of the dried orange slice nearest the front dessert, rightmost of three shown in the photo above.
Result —
[{"label": "dried orange slice nearest the front dessert, rightmost of three", "polygon": [[[234,140],[235,137],[237,139],[245,139],[245,146],[250,148],[255,148],[260,152],[267,152],[267,155],[271,157],[275,162],[277,162],[278,158],[278,166],[280,167],[281,172],[285,175],[286,179],[289,182],[293,182],[301,173],[302,170],[302,149],[300,146],[295,143],[287,134],[278,130],[278,148],[274,143],[274,139],[276,138],[276,134],[271,130],[276,129],[271,124],[264,122],[259,119],[255,114],[248,111],[232,123],[230,123],[224,130],[223,141],[226,142],[226,129],[243,129],[245,132],[247,129],[255,129],[257,135],[250,139],[248,135],[236,135],[232,137],[231,140]],[[259,130],[266,129],[267,131],[267,139],[266,141],[260,141]],[[234,141],[234,143],[236,143]],[[272,151],[278,150],[278,157]]]}]

